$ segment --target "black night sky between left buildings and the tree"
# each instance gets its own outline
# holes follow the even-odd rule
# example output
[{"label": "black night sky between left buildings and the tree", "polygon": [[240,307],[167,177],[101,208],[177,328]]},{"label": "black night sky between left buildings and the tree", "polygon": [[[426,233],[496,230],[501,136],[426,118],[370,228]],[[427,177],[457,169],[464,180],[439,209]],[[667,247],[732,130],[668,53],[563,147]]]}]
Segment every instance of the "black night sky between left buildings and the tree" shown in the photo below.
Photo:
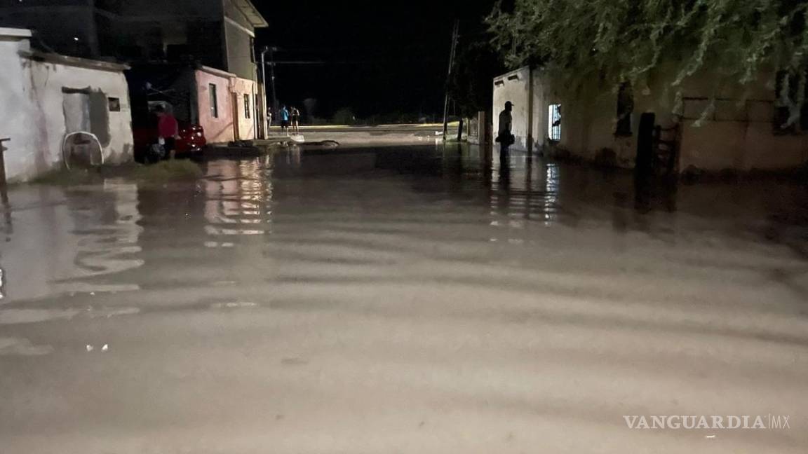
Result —
[{"label": "black night sky between left buildings and the tree", "polygon": [[280,101],[302,107],[314,98],[318,116],[350,107],[363,118],[442,112],[453,21],[461,19],[461,43],[480,39],[482,19],[494,6],[494,0],[253,2],[270,23],[258,32],[259,48],[283,49],[278,61],[326,61],[277,65]]}]

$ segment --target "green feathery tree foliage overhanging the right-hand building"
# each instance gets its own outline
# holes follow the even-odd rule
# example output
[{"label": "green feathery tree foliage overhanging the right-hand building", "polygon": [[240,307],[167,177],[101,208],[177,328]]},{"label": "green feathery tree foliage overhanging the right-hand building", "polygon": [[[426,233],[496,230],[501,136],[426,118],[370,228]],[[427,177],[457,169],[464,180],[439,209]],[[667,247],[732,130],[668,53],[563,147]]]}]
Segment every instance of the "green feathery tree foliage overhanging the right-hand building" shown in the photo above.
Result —
[{"label": "green feathery tree foliage overhanging the right-hand building", "polygon": [[804,99],[805,0],[516,0],[510,12],[498,4],[486,22],[508,65],[617,83],[674,62],[673,87],[705,67],[717,84],[785,71],[799,85],[784,90],[787,100]]}]

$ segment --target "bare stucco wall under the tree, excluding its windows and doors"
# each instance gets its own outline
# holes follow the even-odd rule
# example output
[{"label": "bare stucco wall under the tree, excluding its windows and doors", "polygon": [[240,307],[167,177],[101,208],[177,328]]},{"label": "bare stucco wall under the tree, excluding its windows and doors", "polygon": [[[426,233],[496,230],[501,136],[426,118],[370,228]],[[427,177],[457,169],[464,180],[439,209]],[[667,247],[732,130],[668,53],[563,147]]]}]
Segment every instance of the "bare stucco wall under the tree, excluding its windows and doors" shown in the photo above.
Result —
[{"label": "bare stucco wall under the tree, excluding its windows and doors", "polygon": [[[672,74],[672,73],[671,73]],[[517,75],[517,78],[512,78]],[[508,77],[511,76],[511,80]],[[537,149],[549,153],[569,152],[587,160],[597,159],[604,150],[613,153],[617,165],[633,167],[637,154],[637,133],[642,112],[654,112],[656,124],[671,127],[680,121],[679,170],[690,166],[702,170],[785,170],[808,162],[808,136],[772,133],[774,93],[762,74],[747,87],[747,101],[741,88],[720,86],[716,89],[710,74],[700,74],[682,86],[684,103],[676,107],[673,90],[664,82],[633,88],[634,108],[631,135],[615,136],[617,125],[617,89],[584,84],[571,94],[563,82],[554,81],[540,69],[532,74],[532,90],[527,89],[528,68],[517,69],[494,78],[494,110],[511,100],[516,149],[525,148],[528,94],[532,91],[532,136]],[[503,83],[497,84],[498,81]],[[718,90],[718,91],[716,91]],[[712,116],[696,124],[710,93],[719,98]],[[558,144],[548,139],[548,113],[551,103],[562,105],[562,137]],[[496,128],[496,119],[494,119]]]}]

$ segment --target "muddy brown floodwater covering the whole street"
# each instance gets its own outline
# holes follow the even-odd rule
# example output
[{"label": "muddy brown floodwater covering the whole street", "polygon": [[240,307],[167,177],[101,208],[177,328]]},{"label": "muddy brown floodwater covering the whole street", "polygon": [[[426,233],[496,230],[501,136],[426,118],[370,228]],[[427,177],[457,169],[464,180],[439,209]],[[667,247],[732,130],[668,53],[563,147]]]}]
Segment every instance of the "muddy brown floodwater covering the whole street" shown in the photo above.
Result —
[{"label": "muddy brown floodwater covering the whole street", "polygon": [[808,451],[804,187],[453,146],[203,166],[9,191],[2,454]]}]

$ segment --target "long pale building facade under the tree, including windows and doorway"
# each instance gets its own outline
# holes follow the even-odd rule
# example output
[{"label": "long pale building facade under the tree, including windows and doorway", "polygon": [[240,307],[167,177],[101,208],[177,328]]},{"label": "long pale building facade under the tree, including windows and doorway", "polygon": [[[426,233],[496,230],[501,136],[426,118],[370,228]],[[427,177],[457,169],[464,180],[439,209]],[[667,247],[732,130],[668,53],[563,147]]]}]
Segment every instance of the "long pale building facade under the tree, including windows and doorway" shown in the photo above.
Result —
[{"label": "long pale building facade under the tree, including windows and doorway", "polygon": [[566,81],[523,67],[494,78],[494,121],[511,101],[516,149],[656,173],[791,170],[808,162],[808,136],[786,127],[770,79],[719,86],[711,74],[696,74],[675,96],[665,77],[569,90]]}]

